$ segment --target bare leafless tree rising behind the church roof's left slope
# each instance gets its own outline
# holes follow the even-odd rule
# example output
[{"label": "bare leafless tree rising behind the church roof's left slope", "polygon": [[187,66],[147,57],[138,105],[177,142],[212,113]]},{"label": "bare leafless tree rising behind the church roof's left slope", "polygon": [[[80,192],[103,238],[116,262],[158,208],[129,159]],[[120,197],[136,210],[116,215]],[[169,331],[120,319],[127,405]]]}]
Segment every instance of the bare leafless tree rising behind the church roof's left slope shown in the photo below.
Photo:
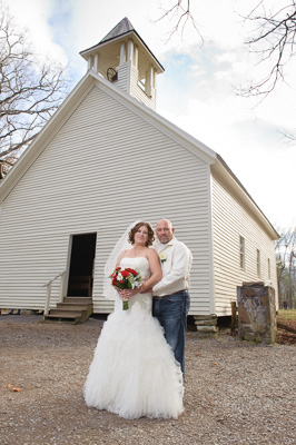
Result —
[{"label": "bare leafless tree rising behind the church roof's left slope", "polygon": [[67,93],[65,68],[42,63],[0,4],[0,180]]}]

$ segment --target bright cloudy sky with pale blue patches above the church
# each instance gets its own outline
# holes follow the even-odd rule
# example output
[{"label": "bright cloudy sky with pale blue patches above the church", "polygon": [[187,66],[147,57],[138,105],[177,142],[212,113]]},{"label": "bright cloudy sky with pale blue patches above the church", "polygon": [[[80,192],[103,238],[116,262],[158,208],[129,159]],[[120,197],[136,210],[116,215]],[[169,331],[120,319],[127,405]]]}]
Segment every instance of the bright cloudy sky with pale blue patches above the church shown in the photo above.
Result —
[{"label": "bright cloudy sky with pale blue patches above the church", "polygon": [[[277,7],[285,0],[265,0]],[[245,39],[243,20],[258,0],[191,1],[188,23],[169,38],[174,21],[158,20],[175,0],[2,0],[28,30],[40,58],[68,66],[72,86],[87,71],[79,52],[127,17],[165,68],[157,78],[157,112],[219,154],[262,211],[282,231],[296,225],[296,62],[264,101],[236,95],[264,73]],[[265,71],[266,72],[266,71]],[[295,142],[296,144],[296,142]]]}]

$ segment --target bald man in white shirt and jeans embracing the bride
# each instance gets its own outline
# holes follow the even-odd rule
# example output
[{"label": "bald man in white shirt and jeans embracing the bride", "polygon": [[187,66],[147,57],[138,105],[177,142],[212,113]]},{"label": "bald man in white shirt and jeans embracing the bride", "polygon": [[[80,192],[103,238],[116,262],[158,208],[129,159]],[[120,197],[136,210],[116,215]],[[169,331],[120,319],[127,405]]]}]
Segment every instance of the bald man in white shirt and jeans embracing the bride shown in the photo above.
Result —
[{"label": "bald man in white shirt and jeans embracing the bride", "polygon": [[185,374],[185,336],[190,307],[190,268],[193,254],[174,236],[175,228],[168,219],[156,225],[157,240],[154,248],[159,255],[162,279],[152,288],[154,316],[165,329],[176,360]]}]

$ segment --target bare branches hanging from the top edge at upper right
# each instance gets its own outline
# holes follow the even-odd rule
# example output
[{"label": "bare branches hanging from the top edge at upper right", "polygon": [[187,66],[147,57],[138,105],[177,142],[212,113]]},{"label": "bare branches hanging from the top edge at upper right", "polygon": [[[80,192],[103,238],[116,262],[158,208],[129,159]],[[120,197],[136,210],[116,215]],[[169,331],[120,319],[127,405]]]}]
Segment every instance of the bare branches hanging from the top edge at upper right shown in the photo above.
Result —
[{"label": "bare branches hanging from the top edge at upper right", "polygon": [[[264,98],[275,89],[279,80],[285,80],[285,67],[296,55],[296,0],[285,1],[284,6],[269,2],[270,7],[268,7],[268,0],[258,0],[249,14],[244,17],[245,21],[254,23],[253,37],[246,39],[245,43],[250,51],[257,53],[260,62],[267,63],[267,67],[266,75],[262,79],[251,81],[246,88],[239,89],[238,93],[243,97],[263,96]],[[190,22],[201,41],[204,40],[193,17],[190,0],[174,1],[170,8],[164,9],[158,21],[165,18],[170,19],[172,23],[169,39],[179,30],[182,34],[185,27]]]}]

